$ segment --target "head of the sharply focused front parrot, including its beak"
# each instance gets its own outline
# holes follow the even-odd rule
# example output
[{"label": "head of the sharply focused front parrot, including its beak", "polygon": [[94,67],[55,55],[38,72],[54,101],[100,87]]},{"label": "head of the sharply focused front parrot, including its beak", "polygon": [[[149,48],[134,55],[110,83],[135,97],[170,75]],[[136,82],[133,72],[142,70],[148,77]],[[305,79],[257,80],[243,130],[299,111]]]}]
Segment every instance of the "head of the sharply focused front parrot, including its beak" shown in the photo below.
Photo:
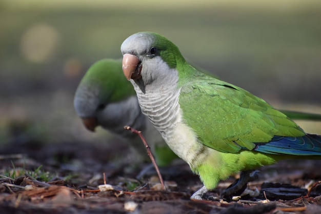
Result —
[{"label": "head of the sharply focused front parrot, including its beak", "polygon": [[186,63],[176,45],[166,37],[152,32],[139,32],[129,36],[123,42],[121,51],[126,79],[143,80],[145,85],[177,75],[179,66]]}]

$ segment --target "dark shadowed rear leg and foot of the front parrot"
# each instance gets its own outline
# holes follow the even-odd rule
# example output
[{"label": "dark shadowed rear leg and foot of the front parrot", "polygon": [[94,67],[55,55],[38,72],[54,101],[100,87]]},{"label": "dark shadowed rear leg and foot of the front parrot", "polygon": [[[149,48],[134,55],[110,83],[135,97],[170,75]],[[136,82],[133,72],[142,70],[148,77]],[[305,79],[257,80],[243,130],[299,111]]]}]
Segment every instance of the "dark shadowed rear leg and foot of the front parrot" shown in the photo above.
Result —
[{"label": "dark shadowed rear leg and foot of the front parrot", "polygon": [[220,194],[220,198],[226,201],[232,201],[233,195],[239,196],[246,189],[248,182],[258,178],[258,172],[258,170],[252,173],[250,173],[250,171],[241,171],[239,179],[227,187],[226,190]]}]

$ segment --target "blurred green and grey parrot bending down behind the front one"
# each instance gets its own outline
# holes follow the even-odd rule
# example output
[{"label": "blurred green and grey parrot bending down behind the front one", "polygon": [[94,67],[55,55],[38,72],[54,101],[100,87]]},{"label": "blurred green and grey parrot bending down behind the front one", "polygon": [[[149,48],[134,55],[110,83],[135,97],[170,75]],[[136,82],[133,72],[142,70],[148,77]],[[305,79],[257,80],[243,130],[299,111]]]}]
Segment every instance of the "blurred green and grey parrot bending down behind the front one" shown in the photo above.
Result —
[{"label": "blurred green and grey parrot bending down behind the front one", "polygon": [[122,60],[94,63],[79,83],[74,108],[88,130],[102,126],[126,140],[144,160],[148,160],[148,155],[142,140],[126,131],[125,125],[144,133],[159,166],[178,159],[139,108],[136,93],[122,73]]}]

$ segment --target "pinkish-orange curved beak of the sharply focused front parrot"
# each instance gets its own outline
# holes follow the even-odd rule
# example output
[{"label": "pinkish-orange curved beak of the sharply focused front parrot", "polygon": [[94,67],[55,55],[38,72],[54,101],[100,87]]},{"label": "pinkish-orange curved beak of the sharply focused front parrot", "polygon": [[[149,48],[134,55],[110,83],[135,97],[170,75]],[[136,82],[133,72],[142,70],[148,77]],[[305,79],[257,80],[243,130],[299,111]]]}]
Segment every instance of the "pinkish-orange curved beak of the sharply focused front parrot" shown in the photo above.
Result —
[{"label": "pinkish-orange curved beak of the sharply focused front parrot", "polygon": [[142,77],[142,64],[137,56],[125,53],[123,56],[123,72],[126,79],[137,80]]}]

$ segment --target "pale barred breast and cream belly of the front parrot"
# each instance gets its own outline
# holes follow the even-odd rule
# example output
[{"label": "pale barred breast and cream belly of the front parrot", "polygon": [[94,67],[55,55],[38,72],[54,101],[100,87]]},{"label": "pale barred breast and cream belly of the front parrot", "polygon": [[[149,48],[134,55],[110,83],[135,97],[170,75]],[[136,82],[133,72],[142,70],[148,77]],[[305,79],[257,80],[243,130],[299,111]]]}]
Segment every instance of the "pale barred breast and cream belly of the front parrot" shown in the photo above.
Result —
[{"label": "pale barred breast and cream belly of the front parrot", "polygon": [[142,85],[139,84],[142,81],[131,80],[142,112],[148,116],[173,152],[194,168],[206,158],[207,153],[202,153],[205,146],[197,141],[192,128],[184,122],[183,111],[178,103],[178,76],[163,81],[166,81],[167,87],[147,84],[144,85],[145,90],[141,90]]}]

